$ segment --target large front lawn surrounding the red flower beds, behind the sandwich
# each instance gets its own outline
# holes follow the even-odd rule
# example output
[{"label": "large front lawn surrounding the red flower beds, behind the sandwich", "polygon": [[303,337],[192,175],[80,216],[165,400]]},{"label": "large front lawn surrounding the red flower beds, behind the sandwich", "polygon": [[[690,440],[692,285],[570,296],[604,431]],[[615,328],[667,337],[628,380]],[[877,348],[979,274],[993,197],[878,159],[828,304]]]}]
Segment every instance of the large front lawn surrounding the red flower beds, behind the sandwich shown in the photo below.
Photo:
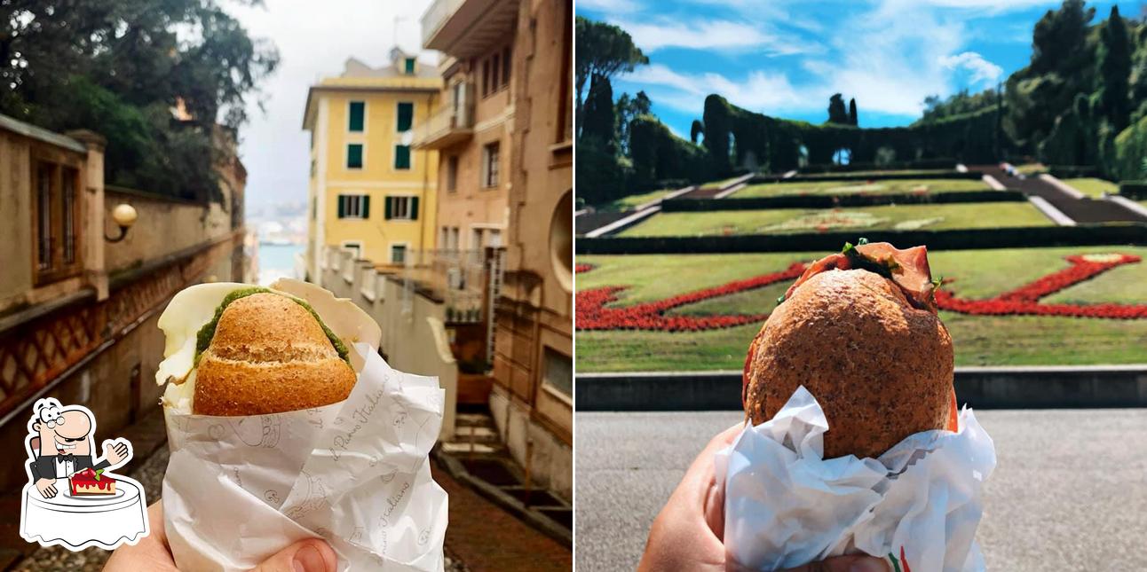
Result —
[{"label": "large front lawn surrounding the red flower beds, behind the sandwich", "polygon": [[[990,298],[1068,266],[1068,254],[1122,252],[1147,259],[1147,248],[1071,246],[935,251],[934,275],[961,298]],[[578,274],[577,288],[630,285],[621,305],[720,285],[824,252],[760,254],[585,256],[595,269]],[[758,313],[771,309],[788,283],[677,308],[684,314]],[[1147,263],[1126,265],[1064,289],[1045,303],[1147,303]],[[969,316],[943,312],[959,366],[1092,365],[1147,362],[1147,320],[1052,316]],[[759,324],[693,334],[578,331],[579,371],[740,369]]]}]

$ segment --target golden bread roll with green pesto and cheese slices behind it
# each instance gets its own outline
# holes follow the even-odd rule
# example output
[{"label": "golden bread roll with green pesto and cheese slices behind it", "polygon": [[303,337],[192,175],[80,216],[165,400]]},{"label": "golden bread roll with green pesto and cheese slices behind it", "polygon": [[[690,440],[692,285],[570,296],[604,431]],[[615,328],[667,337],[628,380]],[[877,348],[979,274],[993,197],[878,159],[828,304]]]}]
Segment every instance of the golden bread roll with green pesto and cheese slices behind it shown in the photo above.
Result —
[{"label": "golden bread roll with green pesto and cheese slices behind it", "polygon": [[262,415],[346,399],[356,374],[297,301],[256,293],[227,305],[200,356],[196,415]]}]

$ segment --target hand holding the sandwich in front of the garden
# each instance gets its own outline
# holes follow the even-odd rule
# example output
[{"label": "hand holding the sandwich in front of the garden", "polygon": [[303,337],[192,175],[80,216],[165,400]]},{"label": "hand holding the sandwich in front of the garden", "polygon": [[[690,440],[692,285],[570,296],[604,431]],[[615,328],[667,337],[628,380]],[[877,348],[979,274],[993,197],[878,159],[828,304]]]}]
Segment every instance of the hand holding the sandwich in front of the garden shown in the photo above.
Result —
[{"label": "hand holding the sandwich in front of the garden", "polygon": [[[713,454],[728,447],[743,425],[738,423],[713,437],[697,455],[653,523],[639,572],[746,570],[728,562],[723,543],[725,499],[713,473]],[[887,572],[883,559],[837,556],[787,572]]]}]

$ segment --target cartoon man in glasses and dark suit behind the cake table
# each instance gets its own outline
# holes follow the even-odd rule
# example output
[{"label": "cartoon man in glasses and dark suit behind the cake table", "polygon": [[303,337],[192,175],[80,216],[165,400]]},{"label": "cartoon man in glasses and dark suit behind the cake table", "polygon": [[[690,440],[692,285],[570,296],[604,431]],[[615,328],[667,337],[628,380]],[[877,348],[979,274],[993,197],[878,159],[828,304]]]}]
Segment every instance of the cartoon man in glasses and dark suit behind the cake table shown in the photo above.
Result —
[{"label": "cartoon man in glasses and dark suit behind the cake table", "polygon": [[92,433],[95,417],[86,407],[60,405],[55,398],[36,402],[28,422],[28,472],[36,489],[45,499],[58,492],[56,479],[71,477],[84,469],[109,469],[132,457],[126,439],[103,441],[103,460],[92,457]]}]

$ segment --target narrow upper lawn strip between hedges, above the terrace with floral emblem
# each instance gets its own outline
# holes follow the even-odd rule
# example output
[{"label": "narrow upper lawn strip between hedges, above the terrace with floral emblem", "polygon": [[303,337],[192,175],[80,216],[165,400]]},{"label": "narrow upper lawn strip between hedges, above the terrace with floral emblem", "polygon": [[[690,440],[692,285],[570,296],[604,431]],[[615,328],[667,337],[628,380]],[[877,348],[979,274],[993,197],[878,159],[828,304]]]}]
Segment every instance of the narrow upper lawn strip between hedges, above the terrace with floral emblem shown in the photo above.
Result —
[{"label": "narrow upper lawn strip between hedges, above the terrace with floral emblem", "polygon": [[974,179],[877,179],[873,181],[798,181],[750,185],[732,196],[774,197],[782,195],[888,195],[927,190],[928,193],[957,193],[988,190],[983,181]]}]

